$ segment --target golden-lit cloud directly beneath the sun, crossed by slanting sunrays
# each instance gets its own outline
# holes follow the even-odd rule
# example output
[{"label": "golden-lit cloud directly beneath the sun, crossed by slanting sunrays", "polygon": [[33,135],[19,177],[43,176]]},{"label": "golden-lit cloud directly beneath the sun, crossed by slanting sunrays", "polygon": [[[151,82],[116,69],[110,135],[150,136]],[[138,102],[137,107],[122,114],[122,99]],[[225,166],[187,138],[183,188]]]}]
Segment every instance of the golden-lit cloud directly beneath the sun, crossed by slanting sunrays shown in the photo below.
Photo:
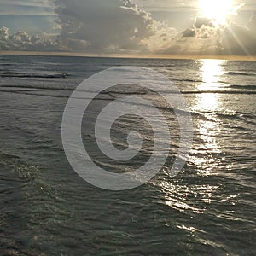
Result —
[{"label": "golden-lit cloud directly beneath the sun, crossed by slanting sunrays", "polygon": [[247,26],[218,25],[215,20],[196,17],[192,27],[182,32],[162,54],[256,55],[256,13]]}]

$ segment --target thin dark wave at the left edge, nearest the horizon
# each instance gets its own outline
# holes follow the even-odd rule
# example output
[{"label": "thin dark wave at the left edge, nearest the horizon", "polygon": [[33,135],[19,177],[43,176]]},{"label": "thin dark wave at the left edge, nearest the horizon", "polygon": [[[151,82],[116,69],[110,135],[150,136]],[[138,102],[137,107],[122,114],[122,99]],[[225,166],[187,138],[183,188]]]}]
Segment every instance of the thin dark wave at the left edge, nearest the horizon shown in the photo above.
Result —
[{"label": "thin dark wave at the left edge, nearest the horizon", "polygon": [[19,72],[3,72],[0,74],[2,78],[37,78],[37,79],[65,79],[69,74],[41,74],[41,73],[19,73]]}]

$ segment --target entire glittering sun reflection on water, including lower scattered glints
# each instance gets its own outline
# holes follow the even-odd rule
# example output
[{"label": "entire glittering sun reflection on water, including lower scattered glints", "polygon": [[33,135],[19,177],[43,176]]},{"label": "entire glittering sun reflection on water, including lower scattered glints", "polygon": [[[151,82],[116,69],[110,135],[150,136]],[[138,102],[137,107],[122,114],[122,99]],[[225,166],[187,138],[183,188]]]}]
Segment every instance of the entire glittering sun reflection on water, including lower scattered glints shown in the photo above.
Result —
[{"label": "entire glittering sun reflection on water, including lower scattered glints", "polygon": [[[223,110],[222,98],[218,94],[224,74],[224,61],[204,60],[200,62],[201,83],[195,85],[198,92],[192,100],[192,110],[195,115],[195,140],[191,150],[188,166],[193,166],[196,174],[201,177],[216,175],[218,165],[224,160],[222,145],[219,141],[221,119],[218,113]],[[216,91],[216,92],[215,92]],[[209,179],[210,181],[211,179]],[[179,212],[201,214],[207,210],[207,204],[212,203],[213,195],[221,190],[220,184],[197,183],[180,184],[169,180],[160,182],[164,194],[164,203]],[[195,232],[190,225],[179,224],[177,227],[188,232]]]}]

